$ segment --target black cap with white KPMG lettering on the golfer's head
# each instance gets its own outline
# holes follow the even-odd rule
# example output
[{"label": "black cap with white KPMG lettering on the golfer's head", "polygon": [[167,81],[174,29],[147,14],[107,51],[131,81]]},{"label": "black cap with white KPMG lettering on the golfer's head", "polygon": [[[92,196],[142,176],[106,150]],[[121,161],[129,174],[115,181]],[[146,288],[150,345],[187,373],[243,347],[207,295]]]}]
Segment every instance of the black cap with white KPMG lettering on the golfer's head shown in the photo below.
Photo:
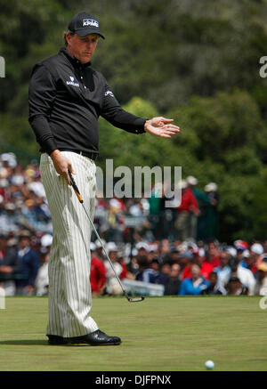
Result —
[{"label": "black cap with white KPMG lettering on the golfer's head", "polygon": [[86,12],[77,13],[69,21],[69,30],[76,32],[78,36],[98,34],[105,39],[105,36],[101,34],[99,21],[93,15],[89,15]]}]

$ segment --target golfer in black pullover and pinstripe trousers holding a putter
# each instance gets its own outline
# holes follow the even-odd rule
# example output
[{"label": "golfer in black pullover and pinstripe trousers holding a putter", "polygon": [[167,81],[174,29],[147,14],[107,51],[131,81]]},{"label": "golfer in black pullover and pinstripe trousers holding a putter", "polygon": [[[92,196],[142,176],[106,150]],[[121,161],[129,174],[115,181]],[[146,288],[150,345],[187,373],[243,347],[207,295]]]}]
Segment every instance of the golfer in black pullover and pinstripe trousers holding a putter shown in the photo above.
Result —
[{"label": "golfer in black pullover and pinstripe trousers holding a putter", "polygon": [[[49,344],[120,344],[90,316],[91,226],[71,190],[68,169],[94,215],[98,118],[133,134],[171,138],[172,119],[147,120],[126,112],[106,79],[91,66],[100,23],[81,12],[69,21],[66,48],[36,63],[29,84],[29,123],[40,144],[40,172],[53,220],[49,261]],[[149,138],[147,142],[149,142]]]}]

